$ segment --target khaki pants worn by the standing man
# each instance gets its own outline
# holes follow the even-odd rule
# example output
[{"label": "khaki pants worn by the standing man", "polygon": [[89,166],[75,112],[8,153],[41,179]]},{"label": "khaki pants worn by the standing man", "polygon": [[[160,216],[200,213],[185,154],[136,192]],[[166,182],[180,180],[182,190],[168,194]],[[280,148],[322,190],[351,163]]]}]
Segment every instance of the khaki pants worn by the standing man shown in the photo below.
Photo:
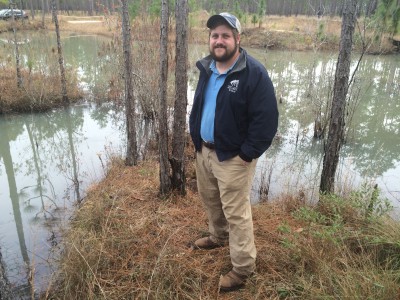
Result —
[{"label": "khaki pants worn by the standing man", "polygon": [[256,163],[243,165],[239,156],[220,162],[215,151],[204,146],[196,155],[197,186],[211,240],[224,243],[229,238],[233,270],[243,275],[254,272],[257,254],[250,204]]}]

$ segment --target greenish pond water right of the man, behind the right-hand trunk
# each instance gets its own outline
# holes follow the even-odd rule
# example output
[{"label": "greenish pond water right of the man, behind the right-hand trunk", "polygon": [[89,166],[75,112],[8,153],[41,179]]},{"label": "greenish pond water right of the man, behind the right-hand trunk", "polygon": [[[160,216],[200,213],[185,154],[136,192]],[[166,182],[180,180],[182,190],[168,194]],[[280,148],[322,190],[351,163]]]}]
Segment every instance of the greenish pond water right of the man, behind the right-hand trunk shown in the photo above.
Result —
[{"label": "greenish pond water right of the man, behind the right-hand trunk", "polygon": [[[278,138],[259,164],[273,166],[272,198],[281,192],[317,195],[323,140],[314,124],[327,123],[336,55],[250,50],[263,61],[275,83],[281,118]],[[357,64],[354,56],[352,69]],[[400,56],[366,56],[351,88],[346,111],[348,131],[338,171],[338,191],[377,182],[396,206],[400,201]],[[266,164],[266,166],[264,165]]]}]

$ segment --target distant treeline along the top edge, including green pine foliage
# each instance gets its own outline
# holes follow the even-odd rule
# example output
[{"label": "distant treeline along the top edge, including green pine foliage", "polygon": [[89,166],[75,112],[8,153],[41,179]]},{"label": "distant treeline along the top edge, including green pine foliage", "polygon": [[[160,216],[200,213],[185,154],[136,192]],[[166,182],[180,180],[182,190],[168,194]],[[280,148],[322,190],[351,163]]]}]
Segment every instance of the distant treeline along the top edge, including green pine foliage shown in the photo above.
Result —
[{"label": "distant treeline along the top edge, including green pine foliage", "polygon": [[[169,15],[173,18],[175,1],[168,0]],[[42,17],[51,12],[52,0],[0,0],[0,9],[22,8],[29,17]],[[55,0],[56,9],[65,16],[110,16],[121,13],[119,0]],[[189,13],[207,12],[208,14],[229,11],[242,23],[252,23],[261,27],[265,17],[340,17],[343,13],[343,0],[188,0]],[[158,19],[161,15],[159,0],[129,0],[127,8],[131,18],[149,16]],[[377,33],[378,40],[382,33],[399,40],[400,0],[359,0],[357,17],[367,20],[368,28]],[[44,21],[42,21],[44,23]]]}]

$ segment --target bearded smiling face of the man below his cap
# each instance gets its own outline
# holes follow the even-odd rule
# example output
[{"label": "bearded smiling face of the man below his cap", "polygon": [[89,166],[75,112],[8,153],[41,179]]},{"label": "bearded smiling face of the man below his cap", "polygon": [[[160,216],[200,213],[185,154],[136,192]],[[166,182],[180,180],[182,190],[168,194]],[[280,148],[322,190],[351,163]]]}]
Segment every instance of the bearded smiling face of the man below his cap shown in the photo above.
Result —
[{"label": "bearded smiling face of the man below his cap", "polygon": [[210,32],[210,54],[215,61],[227,62],[239,49],[239,40],[233,35],[232,28],[228,25],[220,25]]}]

